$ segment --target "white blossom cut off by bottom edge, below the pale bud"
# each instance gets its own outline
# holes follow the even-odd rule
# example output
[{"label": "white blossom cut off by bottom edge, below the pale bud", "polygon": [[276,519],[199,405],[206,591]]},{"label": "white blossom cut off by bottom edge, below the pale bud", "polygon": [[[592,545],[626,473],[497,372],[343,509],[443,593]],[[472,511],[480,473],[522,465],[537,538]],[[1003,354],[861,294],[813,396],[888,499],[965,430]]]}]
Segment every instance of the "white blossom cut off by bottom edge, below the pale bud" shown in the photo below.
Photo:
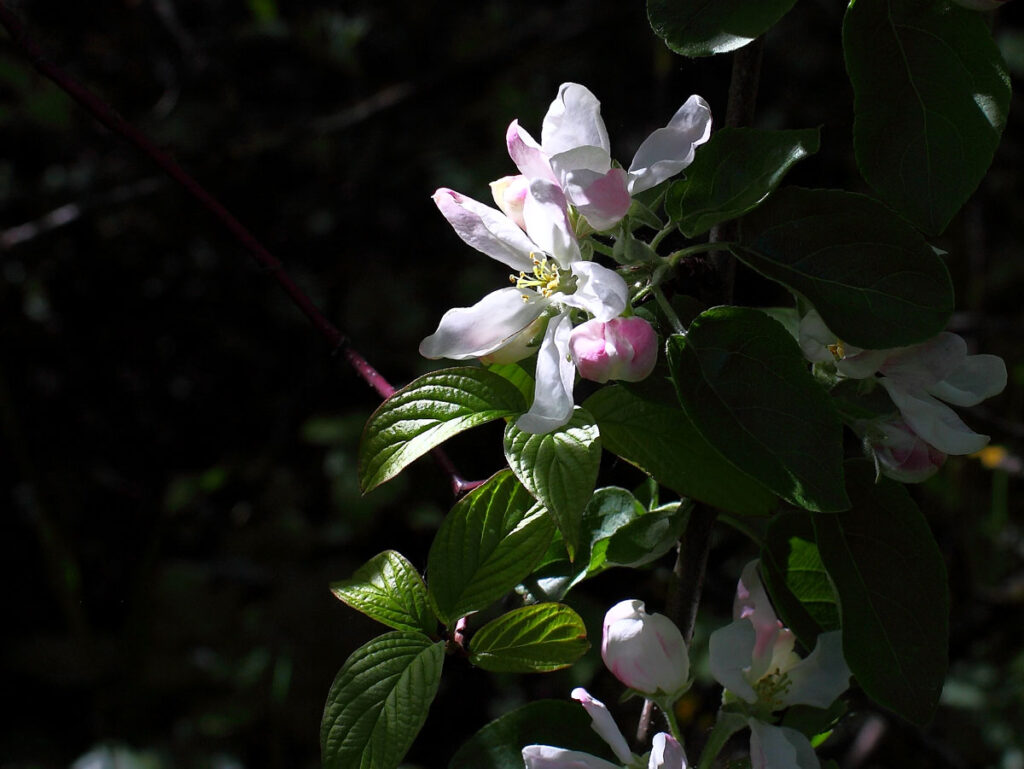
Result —
[{"label": "white blossom cut off by bottom edge, below the pale bud", "polygon": [[[595,699],[586,689],[572,690],[572,698],[587,711],[593,722],[594,731],[611,747],[611,752],[622,764],[612,764],[589,753],[568,751],[552,745],[526,745],[522,749],[522,761],[526,769],[620,769],[635,768],[638,758],[630,751],[626,737],[618,730],[604,702]],[[671,734],[658,732],[651,740],[651,751],[647,756],[647,769],[686,769],[686,754]]]}]

